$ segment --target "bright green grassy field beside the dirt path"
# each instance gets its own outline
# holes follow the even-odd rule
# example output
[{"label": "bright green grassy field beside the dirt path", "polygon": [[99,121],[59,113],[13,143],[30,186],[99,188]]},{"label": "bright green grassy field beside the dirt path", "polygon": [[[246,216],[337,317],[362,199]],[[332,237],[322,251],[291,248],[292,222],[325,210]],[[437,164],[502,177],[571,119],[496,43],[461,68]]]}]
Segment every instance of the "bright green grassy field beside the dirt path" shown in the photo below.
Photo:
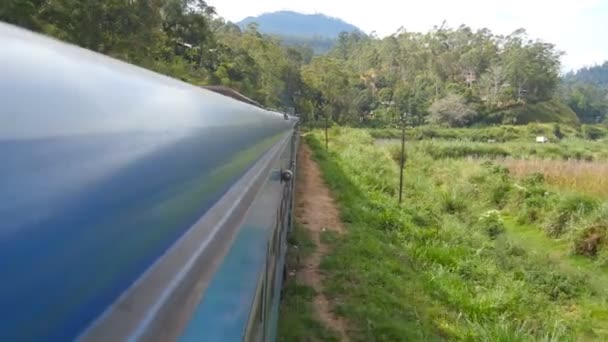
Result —
[{"label": "bright green grassy field beside the dirt path", "polygon": [[[395,147],[345,128],[329,151],[320,141],[307,137],[349,232],[329,239],[324,285],[352,340],[608,339],[604,198],[422,141],[408,148],[399,206]],[[603,158],[590,144],[579,147]],[[323,340],[303,336],[284,340]]]}]

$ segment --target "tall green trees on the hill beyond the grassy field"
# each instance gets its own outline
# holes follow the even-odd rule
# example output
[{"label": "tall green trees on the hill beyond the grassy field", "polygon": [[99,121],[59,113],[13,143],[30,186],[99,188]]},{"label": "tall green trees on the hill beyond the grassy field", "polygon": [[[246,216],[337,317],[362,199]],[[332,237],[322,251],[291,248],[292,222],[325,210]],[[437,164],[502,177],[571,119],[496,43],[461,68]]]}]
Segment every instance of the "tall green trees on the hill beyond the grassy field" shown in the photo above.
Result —
[{"label": "tall green trees on the hill beyond the grassy field", "polygon": [[[442,26],[384,39],[343,34],[328,58],[356,75],[350,87],[355,112],[373,111],[381,121],[408,113],[413,124],[465,126],[513,123],[493,114],[550,99],[559,84],[560,55],[524,30],[500,36]],[[313,61],[313,67],[323,63]]]}]

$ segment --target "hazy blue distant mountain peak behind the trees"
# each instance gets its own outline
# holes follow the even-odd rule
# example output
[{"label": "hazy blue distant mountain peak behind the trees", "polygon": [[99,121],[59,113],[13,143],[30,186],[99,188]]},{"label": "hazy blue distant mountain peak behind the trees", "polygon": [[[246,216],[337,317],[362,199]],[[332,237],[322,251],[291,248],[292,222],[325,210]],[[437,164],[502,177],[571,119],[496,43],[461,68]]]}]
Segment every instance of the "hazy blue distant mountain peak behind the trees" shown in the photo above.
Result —
[{"label": "hazy blue distant mountain peak behind the trees", "polygon": [[304,45],[315,53],[331,49],[341,32],[361,30],[342,19],[324,14],[303,14],[291,11],[264,13],[247,17],[237,23],[241,28],[257,23],[262,33],[279,36],[288,45]]}]

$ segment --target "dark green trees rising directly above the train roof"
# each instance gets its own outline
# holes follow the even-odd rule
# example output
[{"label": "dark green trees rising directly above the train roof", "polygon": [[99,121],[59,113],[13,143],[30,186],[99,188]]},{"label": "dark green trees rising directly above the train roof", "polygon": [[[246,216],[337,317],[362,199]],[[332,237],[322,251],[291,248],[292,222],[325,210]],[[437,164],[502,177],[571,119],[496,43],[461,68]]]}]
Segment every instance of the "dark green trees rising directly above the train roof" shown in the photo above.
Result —
[{"label": "dark green trees rising directly above the train roof", "polygon": [[225,22],[204,0],[3,0],[0,20],[281,109],[294,106],[312,56]]}]

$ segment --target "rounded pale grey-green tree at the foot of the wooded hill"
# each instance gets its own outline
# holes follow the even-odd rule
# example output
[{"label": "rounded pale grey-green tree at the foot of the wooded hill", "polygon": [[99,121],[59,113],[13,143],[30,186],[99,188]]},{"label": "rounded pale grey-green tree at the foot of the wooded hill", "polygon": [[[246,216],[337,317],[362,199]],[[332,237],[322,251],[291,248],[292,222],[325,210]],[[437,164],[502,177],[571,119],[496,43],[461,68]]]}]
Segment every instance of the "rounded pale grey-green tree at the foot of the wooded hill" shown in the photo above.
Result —
[{"label": "rounded pale grey-green tree at the foot of the wooded hill", "polygon": [[462,96],[454,94],[433,102],[429,112],[429,122],[450,127],[466,126],[477,116]]}]

